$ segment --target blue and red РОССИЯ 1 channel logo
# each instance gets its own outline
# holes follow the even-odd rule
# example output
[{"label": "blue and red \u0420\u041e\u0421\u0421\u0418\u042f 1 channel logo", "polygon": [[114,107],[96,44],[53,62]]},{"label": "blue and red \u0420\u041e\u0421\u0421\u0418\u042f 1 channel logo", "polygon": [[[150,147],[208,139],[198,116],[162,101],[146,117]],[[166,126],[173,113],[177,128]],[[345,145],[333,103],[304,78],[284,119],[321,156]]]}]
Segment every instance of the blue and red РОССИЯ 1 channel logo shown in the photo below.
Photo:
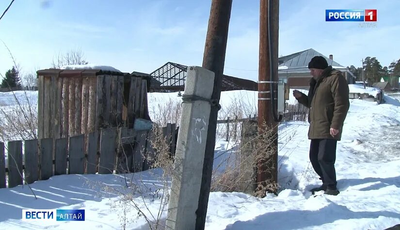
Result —
[{"label": "blue and red \u0420\u041e\u0421\u0421\u0418\u042f 1 channel logo", "polygon": [[325,10],[325,21],[376,22],[377,10]]}]

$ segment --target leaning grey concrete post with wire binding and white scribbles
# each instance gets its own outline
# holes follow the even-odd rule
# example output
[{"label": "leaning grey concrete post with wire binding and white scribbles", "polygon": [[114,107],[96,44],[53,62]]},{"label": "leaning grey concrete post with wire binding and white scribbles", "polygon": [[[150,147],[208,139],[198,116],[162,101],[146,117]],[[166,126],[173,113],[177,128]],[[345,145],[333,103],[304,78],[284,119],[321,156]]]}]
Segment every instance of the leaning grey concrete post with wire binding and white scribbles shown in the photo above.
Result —
[{"label": "leaning grey concrete post with wire binding and white scribbles", "polygon": [[[214,73],[201,67],[188,67],[185,94],[182,96],[182,116],[176,144],[171,196],[168,203],[167,229],[194,229],[197,198],[200,196],[210,99],[214,86]],[[192,100],[186,100],[186,96]]]}]

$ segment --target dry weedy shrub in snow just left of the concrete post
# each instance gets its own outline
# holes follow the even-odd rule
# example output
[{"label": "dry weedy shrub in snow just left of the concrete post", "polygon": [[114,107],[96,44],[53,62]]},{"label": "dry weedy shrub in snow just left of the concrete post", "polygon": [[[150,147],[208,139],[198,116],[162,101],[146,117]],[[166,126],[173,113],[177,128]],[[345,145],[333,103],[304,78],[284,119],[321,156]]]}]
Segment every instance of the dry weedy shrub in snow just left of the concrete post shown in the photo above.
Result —
[{"label": "dry weedy shrub in snow just left of the concrete post", "polygon": [[124,230],[139,218],[144,218],[150,230],[166,229],[166,207],[170,196],[174,159],[170,155],[170,143],[162,134],[160,126],[153,127],[148,141],[151,152],[141,152],[144,160],[150,163],[150,169],[156,170],[148,171],[150,178],[135,173],[128,178],[128,174],[124,174],[125,186],[115,188],[102,185],[105,192],[118,195],[118,199],[112,201],[111,208],[117,212],[121,229]]}]

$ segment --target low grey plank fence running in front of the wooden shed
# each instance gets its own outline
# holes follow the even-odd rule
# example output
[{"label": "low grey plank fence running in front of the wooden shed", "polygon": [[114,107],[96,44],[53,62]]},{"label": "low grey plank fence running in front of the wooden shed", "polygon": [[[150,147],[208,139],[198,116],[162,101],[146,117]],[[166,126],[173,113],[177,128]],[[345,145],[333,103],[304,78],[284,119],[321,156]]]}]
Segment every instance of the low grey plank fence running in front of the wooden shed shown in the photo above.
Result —
[{"label": "low grey plank fence running in front of the wooden shed", "polygon": [[[176,125],[162,128],[168,137],[170,153],[175,155]],[[56,139],[16,140],[8,142],[8,165],[5,167],[4,143],[0,142],[0,188],[15,187],[53,175],[63,174],[109,174],[137,172],[151,168],[154,148],[150,138],[152,130],[108,128],[87,135]],[[22,154],[24,142],[24,155]],[[23,175],[23,177],[21,177]]]}]

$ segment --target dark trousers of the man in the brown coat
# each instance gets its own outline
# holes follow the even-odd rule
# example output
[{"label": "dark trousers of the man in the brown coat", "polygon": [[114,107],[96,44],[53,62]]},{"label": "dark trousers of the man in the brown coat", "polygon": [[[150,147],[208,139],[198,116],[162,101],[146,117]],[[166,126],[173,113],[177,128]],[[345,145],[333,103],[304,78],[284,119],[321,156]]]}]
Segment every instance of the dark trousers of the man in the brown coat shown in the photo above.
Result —
[{"label": "dark trousers of the man in the brown coat", "polygon": [[336,190],[336,143],[335,139],[311,139],[310,162],[328,189]]}]

